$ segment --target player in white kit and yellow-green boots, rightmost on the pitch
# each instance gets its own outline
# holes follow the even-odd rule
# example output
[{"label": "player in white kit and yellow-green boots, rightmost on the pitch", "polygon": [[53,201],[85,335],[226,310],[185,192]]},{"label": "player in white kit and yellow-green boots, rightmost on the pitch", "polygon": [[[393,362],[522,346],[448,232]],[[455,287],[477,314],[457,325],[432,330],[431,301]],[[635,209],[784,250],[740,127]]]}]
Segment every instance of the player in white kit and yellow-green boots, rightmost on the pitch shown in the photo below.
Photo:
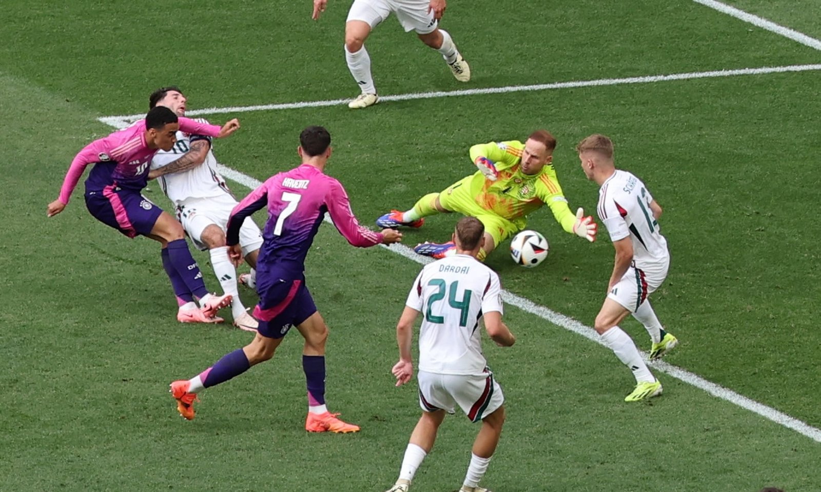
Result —
[{"label": "player in white kit and yellow-green boots, rightmost on the pitch", "polygon": [[626,402],[638,402],[662,393],[662,384],[650,373],[630,336],[618,324],[628,314],[644,324],[653,345],[650,359],[658,359],[678,340],[667,333],[647,299],[664,279],[670,265],[667,240],[661,235],[658,218],[662,208],[647,186],[630,172],[617,169],[613,163],[612,141],[603,135],[591,135],[576,145],[581,168],[599,188],[599,219],[610,233],[616,260],[608,282],[608,297],[596,316],[594,328],[603,343],[635,376],[635,390]]}]

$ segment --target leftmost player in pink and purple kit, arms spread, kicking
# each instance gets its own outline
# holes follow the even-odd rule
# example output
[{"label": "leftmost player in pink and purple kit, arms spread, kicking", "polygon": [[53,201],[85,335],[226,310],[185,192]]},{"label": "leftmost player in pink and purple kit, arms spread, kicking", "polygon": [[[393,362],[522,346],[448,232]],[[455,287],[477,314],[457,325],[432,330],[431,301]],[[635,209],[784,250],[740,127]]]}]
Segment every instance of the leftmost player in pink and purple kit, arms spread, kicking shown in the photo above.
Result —
[{"label": "leftmost player in pink and purple kit, arms spread, kicking", "polygon": [[[85,206],[91,215],[128,237],[141,235],[162,245],[163,268],[171,279],[177,301],[180,306],[190,306],[177,314],[177,320],[220,322],[222,319],[215,315],[231,302],[231,295],[215,296],[208,292],[180,223],[140,191],[145,187],[151,158],[160,149],[172,148],[177,131],[221,138],[239,127],[236,119],[220,128],[177,117],[168,108],[154,108],[144,120],[94,140],[80,150],[71,161],[59,197],[48,204],[48,217],[66,208],[85,168],[94,164],[85,180]],[[199,308],[194,297],[200,299]]]}]

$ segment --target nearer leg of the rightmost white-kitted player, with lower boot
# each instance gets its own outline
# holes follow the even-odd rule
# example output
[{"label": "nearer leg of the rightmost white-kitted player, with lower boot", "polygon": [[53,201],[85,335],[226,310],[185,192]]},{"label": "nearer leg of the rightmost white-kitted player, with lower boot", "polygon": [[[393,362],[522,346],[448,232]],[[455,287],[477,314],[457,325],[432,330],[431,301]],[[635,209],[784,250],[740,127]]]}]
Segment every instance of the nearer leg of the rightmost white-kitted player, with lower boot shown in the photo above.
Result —
[{"label": "nearer leg of the rightmost white-kitted player, with lower boot", "polygon": [[604,345],[616,354],[618,360],[635,377],[635,390],[627,395],[626,402],[640,401],[662,392],[661,384],[644,363],[633,339],[618,326],[631,312],[626,306],[635,306],[636,301],[643,296],[641,286],[636,288],[635,280],[631,279],[631,276],[635,276],[632,270],[632,267],[628,269],[621,281],[608,293],[594,323],[594,329],[601,336]]}]

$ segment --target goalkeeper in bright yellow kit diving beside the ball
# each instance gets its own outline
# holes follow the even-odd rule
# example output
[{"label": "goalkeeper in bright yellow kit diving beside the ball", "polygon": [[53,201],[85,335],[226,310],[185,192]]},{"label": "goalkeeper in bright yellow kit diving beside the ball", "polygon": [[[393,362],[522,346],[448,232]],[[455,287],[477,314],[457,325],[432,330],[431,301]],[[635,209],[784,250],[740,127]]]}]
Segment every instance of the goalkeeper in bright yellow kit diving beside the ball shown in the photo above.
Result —
[{"label": "goalkeeper in bright yellow kit diving beside the ball", "polygon": [[[583,209],[571,212],[553,169],[556,139],[546,130],[534,131],[522,144],[518,140],[490,142],[470,147],[470,159],[479,171],[440,193],[420,198],[406,212],[392,210],[376,220],[380,228],[420,228],[424,217],[459,212],[484,224],[484,246],[479,260],[502,241],[527,225],[526,216],[548,205],[566,232],[588,241],[596,239],[596,223]],[[452,241],[424,242],[414,247],[420,255],[443,258],[456,251]]]}]

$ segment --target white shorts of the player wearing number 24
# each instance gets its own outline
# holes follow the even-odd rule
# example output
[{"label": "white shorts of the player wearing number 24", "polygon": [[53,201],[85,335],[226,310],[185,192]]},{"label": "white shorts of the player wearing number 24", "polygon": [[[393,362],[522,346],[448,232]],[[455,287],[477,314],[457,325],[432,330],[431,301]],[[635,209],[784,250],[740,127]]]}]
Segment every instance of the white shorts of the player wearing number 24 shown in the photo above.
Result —
[{"label": "white shorts of the player wearing number 24", "polygon": [[425,412],[453,413],[456,405],[467,418],[479,422],[505,402],[502,387],[485,370],[481,375],[447,375],[419,371],[419,405]]}]

